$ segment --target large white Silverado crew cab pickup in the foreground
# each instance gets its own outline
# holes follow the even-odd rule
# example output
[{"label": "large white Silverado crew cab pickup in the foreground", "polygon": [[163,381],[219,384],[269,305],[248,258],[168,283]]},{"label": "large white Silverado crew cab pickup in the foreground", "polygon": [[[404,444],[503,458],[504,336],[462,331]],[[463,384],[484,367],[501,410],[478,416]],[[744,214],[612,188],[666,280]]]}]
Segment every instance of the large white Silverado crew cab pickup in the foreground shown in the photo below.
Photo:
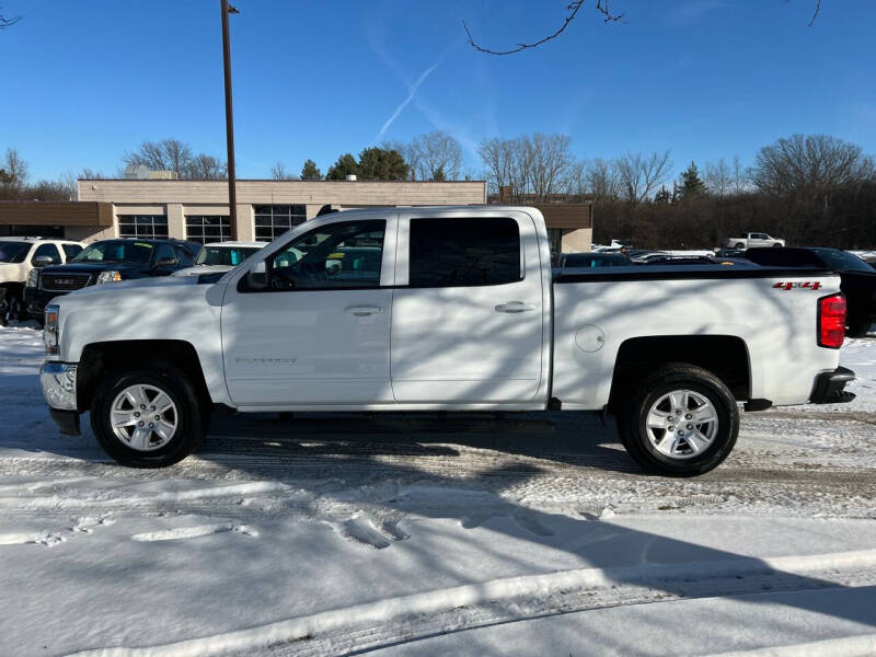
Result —
[{"label": "large white Silverado crew cab pickup in the foreground", "polygon": [[[338,264],[341,263],[341,264]],[[823,270],[553,277],[538,210],[326,215],[234,269],[83,288],[46,309],[51,415],[125,465],[189,454],[210,412],[602,411],[649,471],[706,472],[739,405],[849,401]],[[112,289],[110,289],[112,288]]]}]

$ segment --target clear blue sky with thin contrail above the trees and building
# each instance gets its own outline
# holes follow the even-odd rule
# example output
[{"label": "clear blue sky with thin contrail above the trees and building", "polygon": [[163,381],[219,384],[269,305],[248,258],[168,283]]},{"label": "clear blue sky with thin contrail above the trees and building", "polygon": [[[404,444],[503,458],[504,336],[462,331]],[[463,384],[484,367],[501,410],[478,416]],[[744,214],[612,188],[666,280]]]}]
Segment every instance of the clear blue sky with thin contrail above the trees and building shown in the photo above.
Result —
[{"label": "clear blue sky with thin contrail above the trees and building", "polygon": [[[446,129],[480,174],[480,140],[565,132],[579,158],[669,148],[691,160],[793,132],[876,152],[876,1],[588,0],[562,38],[511,57],[473,51],[552,32],[567,0],[235,0],[240,177]],[[224,157],[218,0],[0,0],[0,149],[32,177],[113,174],[143,139]],[[419,81],[416,93],[411,89]],[[391,120],[392,119],[392,120]]]}]

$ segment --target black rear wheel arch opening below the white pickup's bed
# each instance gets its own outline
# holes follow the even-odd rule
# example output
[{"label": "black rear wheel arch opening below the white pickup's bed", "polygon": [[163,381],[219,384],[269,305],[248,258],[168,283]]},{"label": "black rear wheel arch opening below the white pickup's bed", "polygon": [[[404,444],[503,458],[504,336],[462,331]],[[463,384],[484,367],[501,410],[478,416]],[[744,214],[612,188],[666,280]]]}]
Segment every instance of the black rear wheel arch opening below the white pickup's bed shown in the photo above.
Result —
[{"label": "black rear wheel arch opening below the white pickup's bed", "polygon": [[[678,356],[676,356],[678,354]],[[649,373],[670,362],[684,362],[714,373],[739,401],[751,396],[748,346],[736,335],[662,335],[623,342],[614,361],[609,410]]]}]

